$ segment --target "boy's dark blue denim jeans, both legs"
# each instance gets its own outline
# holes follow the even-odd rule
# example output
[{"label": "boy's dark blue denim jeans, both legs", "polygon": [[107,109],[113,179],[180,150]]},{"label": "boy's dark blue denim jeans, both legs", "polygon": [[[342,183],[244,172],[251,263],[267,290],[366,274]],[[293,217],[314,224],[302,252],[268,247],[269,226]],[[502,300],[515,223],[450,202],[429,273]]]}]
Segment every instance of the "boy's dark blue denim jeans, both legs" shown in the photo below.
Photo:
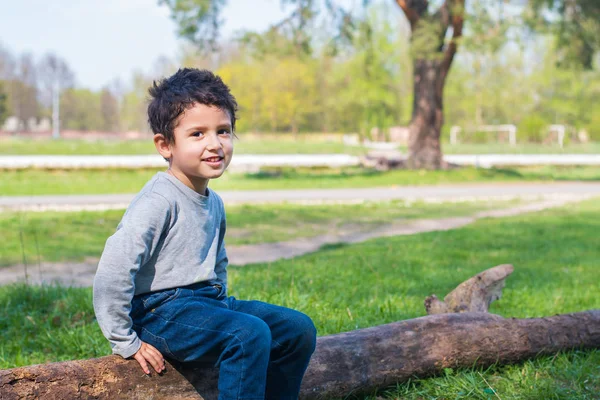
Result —
[{"label": "boy's dark blue denim jeans, both legs", "polygon": [[316,345],[309,317],[199,283],[135,296],[133,329],[165,357],[219,366],[219,399],[297,399]]}]

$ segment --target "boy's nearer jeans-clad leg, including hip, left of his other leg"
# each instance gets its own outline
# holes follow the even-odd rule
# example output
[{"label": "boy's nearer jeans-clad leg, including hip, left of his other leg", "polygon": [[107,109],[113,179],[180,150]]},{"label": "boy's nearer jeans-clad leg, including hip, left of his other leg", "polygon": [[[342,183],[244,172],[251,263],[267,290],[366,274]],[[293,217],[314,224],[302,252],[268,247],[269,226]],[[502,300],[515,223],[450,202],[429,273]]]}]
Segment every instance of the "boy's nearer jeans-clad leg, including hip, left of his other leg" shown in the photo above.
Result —
[{"label": "boy's nearer jeans-clad leg, including hip, left of his other leg", "polygon": [[167,358],[217,364],[219,399],[264,399],[268,325],[228,309],[220,289],[173,289],[134,299],[134,329]]}]

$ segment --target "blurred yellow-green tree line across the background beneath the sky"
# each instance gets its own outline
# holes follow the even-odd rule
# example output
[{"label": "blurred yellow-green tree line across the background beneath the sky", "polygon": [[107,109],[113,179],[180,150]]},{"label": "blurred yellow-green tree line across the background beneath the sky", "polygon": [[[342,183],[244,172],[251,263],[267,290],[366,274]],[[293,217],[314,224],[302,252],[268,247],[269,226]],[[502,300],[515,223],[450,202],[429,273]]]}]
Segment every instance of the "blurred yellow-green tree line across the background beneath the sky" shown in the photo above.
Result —
[{"label": "blurred yellow-green tree line across the background beneath the sky", "polygon": [[[540,141],[544,126],[566,124],[600,140],[600,113],[593,109],[600,100],[594,47],[581,39],[584,44],[565,50],[561,36],[530,8],[473,3],[446,80],[443,130],[511,123],[519,126],[520,140]],[[532,30],[533,24],[547,29]],[[147,131],[146,89],[176,66],[210,68],[223,77],[240,105],[240,132],[368,134],[374,126],[410,123],[415,44],[396,5],[372,2],[352,16],[352,29],[335,46],[330,39],[336,32],[323,19],[280,28],[241,33],[213,50],[187,46],[180,59],[160,58],[152,73],[135,72],[129,82],[100,90],[78,86],[55,55],[36,60],[0,48],[0,124],[13,115],[26,127],[30,118],[51,115],[48,71],[57,60],[62,65],[60,120],[66,129]],[[560,29],[570,32],[569,24]],[[586,64],[571,62],[577,57]]]}]

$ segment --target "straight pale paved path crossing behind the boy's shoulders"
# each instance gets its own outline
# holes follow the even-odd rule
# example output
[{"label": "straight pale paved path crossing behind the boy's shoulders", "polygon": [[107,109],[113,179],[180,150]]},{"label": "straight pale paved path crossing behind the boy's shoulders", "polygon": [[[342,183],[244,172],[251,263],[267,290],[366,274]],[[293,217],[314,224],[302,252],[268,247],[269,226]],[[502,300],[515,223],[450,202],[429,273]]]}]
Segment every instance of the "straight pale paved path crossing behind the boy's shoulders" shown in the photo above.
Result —
[{"label": "straight pale paved path crossing behind the boy's shoulders", "polygon": [[[357,203],[362,201],[485,201],[539,196],[600,196],[600,182],[499,182],[353,189],[219,191],[225,205]],[[125,209],[133,194],[0,196],[0,212]]]}]

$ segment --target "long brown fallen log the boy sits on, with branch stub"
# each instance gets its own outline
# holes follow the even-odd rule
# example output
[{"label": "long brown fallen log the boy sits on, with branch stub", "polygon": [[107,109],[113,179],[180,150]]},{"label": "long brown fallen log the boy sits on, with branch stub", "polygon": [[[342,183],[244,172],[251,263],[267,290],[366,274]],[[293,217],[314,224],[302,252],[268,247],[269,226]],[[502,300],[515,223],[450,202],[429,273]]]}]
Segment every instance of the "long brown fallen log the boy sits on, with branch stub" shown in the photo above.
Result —
[{"label": "long brown fallen log the boy sits on, with branch stub", "polygon": [[[512,266],[506,265],[484,271],[470,284],[461,284],[462,291],[470,294],[461,296],[457,288],[445,301],[471,297],[481,307],[486,299],[499,296],[498,287],[510,272]],[[372,393],[449,367],[512,363],[568,349],[600,348],[600,310],[515,319],[458,307],[465,312],[320,337],[301,398]],[[0,399],[213,399],[217,377],[214,368],[173,364],[164,374],[146,376],[136,361],[108,356],[0,371]]]}]

